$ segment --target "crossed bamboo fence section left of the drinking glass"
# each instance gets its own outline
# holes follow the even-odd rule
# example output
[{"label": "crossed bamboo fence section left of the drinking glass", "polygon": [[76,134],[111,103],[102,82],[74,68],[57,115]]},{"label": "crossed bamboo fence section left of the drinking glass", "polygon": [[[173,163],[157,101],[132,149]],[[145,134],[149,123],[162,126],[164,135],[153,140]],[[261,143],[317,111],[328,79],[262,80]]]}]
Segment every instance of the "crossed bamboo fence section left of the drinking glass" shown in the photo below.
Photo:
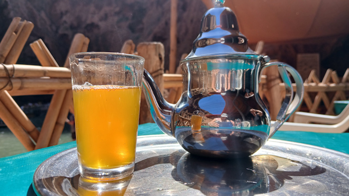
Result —
[{"label": "crossed bamboo fence section left of the drinking glass", "polygon": [[[0,68],[2,77],[0,82],[5,84],[0,90],[0,118],[28,151],[56,145],[62,133],[69,106],[72,107],[70,71],[67,68],[58,67],[41,39],[31,44],[31,47],[36,55],[39,53],[38,59],[41,65],[53,66],[54,69],[14,65],[33,27],[30,21],[21,21],[20,17],[15,17],[0,42],[0,63],[4,63]],[[76,34],[68,56],[76,52],[86,52],[88,44],[87,37],[81,33]],[[65,67],[68,66],[67,58]],[[69,75],[69,79],[66,74]],[[53,94],[53,98],[39,132],[11,96],[42,94]]]}]

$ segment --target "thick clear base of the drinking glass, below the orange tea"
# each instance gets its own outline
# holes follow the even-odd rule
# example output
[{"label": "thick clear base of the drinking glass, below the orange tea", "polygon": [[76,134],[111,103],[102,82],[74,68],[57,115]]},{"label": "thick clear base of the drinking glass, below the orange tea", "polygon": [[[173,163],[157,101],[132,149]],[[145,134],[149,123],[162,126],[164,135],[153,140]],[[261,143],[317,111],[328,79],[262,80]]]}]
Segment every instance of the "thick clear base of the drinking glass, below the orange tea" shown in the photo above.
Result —
[{"label": "thick clear base of the drinking glass, below the orange tea", "polygon": [[84,167],[79,164],[80,175],[87,179],[92,180],[116,180],[125,178],[133,173],[135,169],[135,162],[118,168],[112,169],[94,169]]}]

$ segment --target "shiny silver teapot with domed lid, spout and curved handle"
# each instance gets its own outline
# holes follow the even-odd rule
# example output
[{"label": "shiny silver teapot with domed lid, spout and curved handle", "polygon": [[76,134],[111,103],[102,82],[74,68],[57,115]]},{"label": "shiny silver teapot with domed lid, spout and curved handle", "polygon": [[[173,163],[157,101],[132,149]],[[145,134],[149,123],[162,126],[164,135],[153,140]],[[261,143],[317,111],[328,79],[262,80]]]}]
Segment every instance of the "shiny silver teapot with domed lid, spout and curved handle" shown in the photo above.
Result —
[{"label": "shiny silver teapot with domed lid, spout and curved handle", "polygon": [[[177,139],[189,153],[220,158],[246,157],[255,153],[300,105],[304,87],[291,66],[268,63],[268,56],[254,53],[239,31],[233,11],[224,0],[213,0],[201,20],[192,51],[180,66],[183,92],[177,103],[167,102],[145,70],[143,92],[160,129]],[[262,70],[277,65],[286,97],[271,124],[258,94]],[[296,83],[296,91],[290,74]]]}]

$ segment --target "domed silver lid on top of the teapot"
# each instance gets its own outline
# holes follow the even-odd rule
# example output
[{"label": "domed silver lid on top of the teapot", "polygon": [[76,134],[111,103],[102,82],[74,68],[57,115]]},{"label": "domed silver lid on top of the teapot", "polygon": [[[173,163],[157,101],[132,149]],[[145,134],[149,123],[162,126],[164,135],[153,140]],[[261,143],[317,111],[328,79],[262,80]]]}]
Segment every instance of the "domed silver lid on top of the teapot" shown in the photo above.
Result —
[{"label": "domed silver lid on top of the teapot", "polygon": [[201,20],[200,33],[186,57],[204,57],[229,54],[253,54],[247,38],[240,33],[237,19],[225,0],[212,0],[214,7],[207,10]]}]

